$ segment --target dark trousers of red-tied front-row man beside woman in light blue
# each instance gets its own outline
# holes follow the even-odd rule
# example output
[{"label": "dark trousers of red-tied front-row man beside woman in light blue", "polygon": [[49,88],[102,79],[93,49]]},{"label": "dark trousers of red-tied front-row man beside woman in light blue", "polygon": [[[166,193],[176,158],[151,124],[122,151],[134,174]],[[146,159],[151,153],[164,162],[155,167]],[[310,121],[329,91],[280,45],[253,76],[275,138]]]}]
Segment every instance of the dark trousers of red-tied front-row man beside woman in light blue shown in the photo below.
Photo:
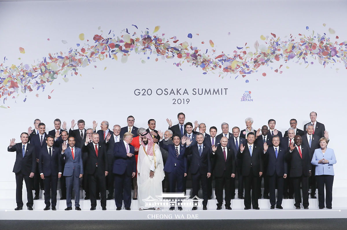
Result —
[{"label": "dark trousers of red-tied front-row man beside woman in light blue", "polygon": [[300,183],[303,193],[303,206],[308,207],[308,176],[292,177],[293,186],[294,186],[294,198],[295,198],[295,207],[300,207],[301,203],[301,194],[300,194]]}]

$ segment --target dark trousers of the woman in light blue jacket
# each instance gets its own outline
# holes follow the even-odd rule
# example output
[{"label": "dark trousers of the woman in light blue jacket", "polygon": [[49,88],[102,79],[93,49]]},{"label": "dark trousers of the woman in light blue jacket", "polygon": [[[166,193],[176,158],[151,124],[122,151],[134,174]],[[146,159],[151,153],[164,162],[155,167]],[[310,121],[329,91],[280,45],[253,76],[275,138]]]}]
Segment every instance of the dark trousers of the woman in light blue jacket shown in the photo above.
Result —
[{"label": "dark trousers of the woman in light blue jacket", "polygon": [[334,182],[334,176],[332,175],[320,175],[316,176],[318,186],[318,207],[324,208],[324,185],[325,185],[325,204],[327,208],[331,208],[332,202],[332,184]]}]

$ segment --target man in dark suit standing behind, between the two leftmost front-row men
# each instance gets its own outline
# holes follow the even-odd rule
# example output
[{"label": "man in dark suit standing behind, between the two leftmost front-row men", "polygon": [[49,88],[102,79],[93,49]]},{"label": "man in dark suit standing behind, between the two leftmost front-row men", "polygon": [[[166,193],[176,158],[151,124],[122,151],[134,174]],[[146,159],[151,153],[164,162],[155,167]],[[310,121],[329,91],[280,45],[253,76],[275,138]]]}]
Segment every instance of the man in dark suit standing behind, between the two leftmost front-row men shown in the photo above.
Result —
[{"label": "man in dark suit standing behind, between the two leftmost front-row men", "polygon": [[44,123],[39,123],[39,134],[34,135],[31,138],[30,144],[35,147],[35,156],[36,156],[36,173],[34,175],[34,189],[35,189],[35,197],[34,200],[39,199],[40,195],[40,187],[44,189],[43,180],[40,177],[39,173],[39,155],[41,149],[47,146],[46,139],[48,135],[46,134],[46,125]]}]

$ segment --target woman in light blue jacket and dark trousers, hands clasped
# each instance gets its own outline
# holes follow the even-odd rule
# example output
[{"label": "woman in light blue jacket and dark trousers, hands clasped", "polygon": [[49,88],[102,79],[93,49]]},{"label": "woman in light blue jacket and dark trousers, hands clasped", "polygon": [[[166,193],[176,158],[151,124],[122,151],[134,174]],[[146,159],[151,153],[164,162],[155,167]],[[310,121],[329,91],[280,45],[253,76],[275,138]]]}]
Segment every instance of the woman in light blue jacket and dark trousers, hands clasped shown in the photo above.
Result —
[{"label": "woman in light blue jacket and dark trousers, hands clasped", "polygon": [[314,150],[311,164],[316,166],[316,182],[318,186],[318,207],[324,208],[324,185],[326,191],[325,204],[328,209],[332,209],[332,183],[334,181],[334,168],[333,164],[336,164],[336,157],[334,150],[327,148],[328,139],[322,137],[319,139],[319,145],[321,148]]}]

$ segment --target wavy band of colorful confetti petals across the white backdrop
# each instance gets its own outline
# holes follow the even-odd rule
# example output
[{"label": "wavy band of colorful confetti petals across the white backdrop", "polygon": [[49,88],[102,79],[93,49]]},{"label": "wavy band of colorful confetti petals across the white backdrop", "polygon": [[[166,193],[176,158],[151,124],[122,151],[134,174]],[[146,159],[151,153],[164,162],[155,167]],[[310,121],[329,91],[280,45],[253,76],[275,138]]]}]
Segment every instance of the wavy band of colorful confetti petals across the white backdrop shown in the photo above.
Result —
[{"label": "wavy band of colorful confetti petals across the white backdrop", "polygon": [[[136,25],[132,26],[134,26],[132,29],[136,28],[138,31]],[[347,41],[331,42],[325,33],[320,35],[313,31],[310,36],[298,34],[298,37],[290,35],[283,39],[273,33],[271,36],[261,35],[261,43],[256,41],[253,45],[255,51],[251,51],[250,46],[247,46],[246,43],[243,47],[237,46],[231,55],[227,55],[224,51],[217,52],[216,44],[212,40],[209,40],[212,49],[205,51],[192,44],[189,45],[186,41],[180,43],[176,36],[166,39],[164,34],[162,36],[154,35],[159,29],[160,26],[156,26],[152,34],[147,29],[140,31],[139,34],[135,31],[131,35],[128,29],[124,29],[120,36],[113,33],[113,36],[108,38],[104,38],[107,37],[104,35],[95,35],[94,44],[86,44],[82,47],[79,47],[80,44],[76,44],[78,48],[71,48],[68,53],[49,53],[35,65],[22,63],[18,66],[6,66],[6,57],[4,57],[4,62],[0,64],[0,100],[5,104],[6,100],[15,100],[19,94],[43,91],[47,84],[60,77],[68,82],[67,76],[78,75],[78,68],[86,67],[105,58],[115,60],[120,58],[121,63],[126,63],[128,56],[132,53],[144,54],[147,59],[150,58],[149,55],[156,55],[155,61],[158,61],[158,57],[173,59],[172,63],[177,67],[187,62],[191,66],[201,67],[202,74],[218,72],[219,77],[224,77],[228,73],[237,74],[235,79],[239,75],[246,77],[248,74],[255,73],[261,66],[270,66],[272,71],[282,73],[279,71],[282,65],[276,64],[279,61],[307,64],[307,68],[308,65],[313,64],[307,60],[309,57],[324,67],[328,64],[343,63],[347,68]],[[306,29],[309,28],[306,27]],[[329,33],[335,34],[335,31],[329,28]],[[110,34],[111,30],[108,36]],[[198,34],[196,35],[198,36]],[[188,38],[192,38],[192,34],[189,33]],[[84,34],[79,34],[79,39],[84,40]],[[67,43],[66,40],[61,40],[61,42]],[[25,54],[25,49],[19,47],[19,52]],[[145,60],[141,62],[145,63]],[[266,73],[264,72],[262,75],[266,76]],[[247,79],[246,82],[249,80]],[[39,94],[36,93],[36,96]],[[1,108],[8,107],[2,105]]]}]

